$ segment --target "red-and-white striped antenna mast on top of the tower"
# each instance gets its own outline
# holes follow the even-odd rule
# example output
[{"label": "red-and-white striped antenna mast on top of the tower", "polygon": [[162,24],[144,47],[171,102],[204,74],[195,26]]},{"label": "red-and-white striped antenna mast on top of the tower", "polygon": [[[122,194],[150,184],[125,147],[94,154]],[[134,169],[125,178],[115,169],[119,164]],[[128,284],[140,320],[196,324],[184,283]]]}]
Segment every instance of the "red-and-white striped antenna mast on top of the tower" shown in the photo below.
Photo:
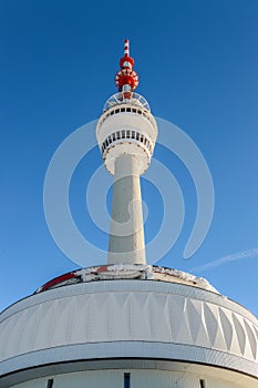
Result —
[{"label": "red-and-white striped antenna mast on top of the tower", "polygon": [[124,41],[124,57],[120,60],[120,71],[115,75],[115,85],[124,100],[130,100],[138,85],[138,74],[133,70],[134,59],[130,57],[130,41]]}]

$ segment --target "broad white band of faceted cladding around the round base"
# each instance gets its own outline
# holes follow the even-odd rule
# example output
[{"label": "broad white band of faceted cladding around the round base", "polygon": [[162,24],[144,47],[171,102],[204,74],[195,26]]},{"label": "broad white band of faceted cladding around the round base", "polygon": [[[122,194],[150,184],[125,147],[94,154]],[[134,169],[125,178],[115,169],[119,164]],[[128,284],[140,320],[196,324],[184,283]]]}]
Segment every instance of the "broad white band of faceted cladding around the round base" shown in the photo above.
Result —
[{"label": "broad white band of faceted cladding around the round base", "polygon": [[0,375],[69,359],[147,357],[258,377],[257,346],[258,321],[242,306],[162,282],[65,286],[23,299],[0,316]]}]

